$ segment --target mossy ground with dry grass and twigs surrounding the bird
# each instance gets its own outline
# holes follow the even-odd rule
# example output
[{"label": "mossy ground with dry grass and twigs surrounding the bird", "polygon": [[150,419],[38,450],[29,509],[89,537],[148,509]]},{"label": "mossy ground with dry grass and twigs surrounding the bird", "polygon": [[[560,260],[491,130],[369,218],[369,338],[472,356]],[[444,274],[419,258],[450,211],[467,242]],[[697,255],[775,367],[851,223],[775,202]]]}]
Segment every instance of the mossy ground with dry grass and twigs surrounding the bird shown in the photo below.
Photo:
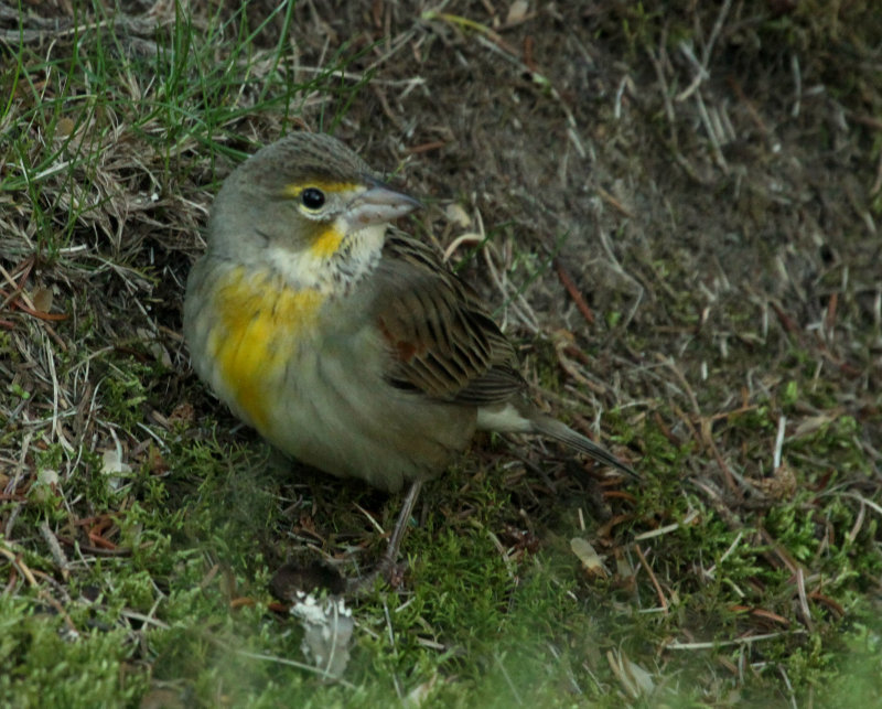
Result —
[{"label": "mossy ground with dry grass and twigs surrounding the bird", "polygon": [[[334,4],[0,4],[0,697],[878,696],[872,3]],[[428,197],[540,400],[646,481],[478,441],[333,686],[268,578],[369,563],[395,501],[280,475],[179,334],[219,181],[302,127]]]}]

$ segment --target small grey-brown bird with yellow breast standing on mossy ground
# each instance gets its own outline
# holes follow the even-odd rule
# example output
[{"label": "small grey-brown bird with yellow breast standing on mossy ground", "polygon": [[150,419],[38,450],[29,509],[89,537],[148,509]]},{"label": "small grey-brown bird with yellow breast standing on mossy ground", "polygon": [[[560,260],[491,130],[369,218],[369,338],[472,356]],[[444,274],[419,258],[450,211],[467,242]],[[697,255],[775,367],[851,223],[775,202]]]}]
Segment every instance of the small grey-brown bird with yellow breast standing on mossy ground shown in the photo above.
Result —
[{"label": "small grey-brown bird with yellow breast standing on mossy ground", "polygon": [[530,400],[516,351],[434,248],[396,228],[421,208],[334,137],[294,131],[224,181],[183,311],[193,368],[272,447],[338,477],[421,485],[478,430],[557,440],[634,470]]}]

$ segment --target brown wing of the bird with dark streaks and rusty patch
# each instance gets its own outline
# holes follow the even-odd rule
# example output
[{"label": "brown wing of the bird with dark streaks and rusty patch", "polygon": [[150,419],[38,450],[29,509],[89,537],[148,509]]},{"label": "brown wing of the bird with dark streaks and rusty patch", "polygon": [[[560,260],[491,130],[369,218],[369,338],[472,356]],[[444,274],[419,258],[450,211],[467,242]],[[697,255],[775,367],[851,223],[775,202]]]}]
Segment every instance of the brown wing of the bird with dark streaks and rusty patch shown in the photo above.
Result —
[{"label": "brown wing of the bird with dark streaks and rusty patch", "polygon": [[512,344],[431,248],[391,233],[375,276],[374,316],[389,345],[392,386],[472,406],[523,390]]}]

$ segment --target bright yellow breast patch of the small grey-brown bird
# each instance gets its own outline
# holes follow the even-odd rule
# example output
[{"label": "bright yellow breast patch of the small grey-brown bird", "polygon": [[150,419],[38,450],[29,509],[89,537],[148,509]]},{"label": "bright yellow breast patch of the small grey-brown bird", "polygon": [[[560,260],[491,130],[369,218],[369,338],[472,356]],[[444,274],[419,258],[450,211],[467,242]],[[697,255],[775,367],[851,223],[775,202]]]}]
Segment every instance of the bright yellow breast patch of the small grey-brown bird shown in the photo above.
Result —
[{"label": "bright yellow breast patch of the small grey-brown bird", "polygon": [[267,430],[273,397],[283,396],[286,367],[315,329],[324,297],[295,290],[271,275],[233,269],[218,284],[208,352],[238,408],[259,431]]}]

